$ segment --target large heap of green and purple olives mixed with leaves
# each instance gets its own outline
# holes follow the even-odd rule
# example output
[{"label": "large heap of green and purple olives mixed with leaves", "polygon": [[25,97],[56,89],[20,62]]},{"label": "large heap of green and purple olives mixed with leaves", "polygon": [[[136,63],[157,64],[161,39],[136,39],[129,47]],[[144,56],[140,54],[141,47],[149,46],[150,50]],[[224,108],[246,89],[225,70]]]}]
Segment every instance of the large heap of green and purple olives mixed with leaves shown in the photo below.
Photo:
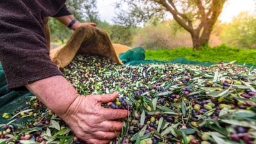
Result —
[{"label": "large heap of green and purple olives mixed with leaves", "polygon": [[[79,55],[62,71],[83,95],[120,93],[119,99],[102,104],[131,111],[111,143],[255,143],[253,68],[233,63],[115,65]],[[83,143],[35,97],[26,99],[26,106],[1,111],[0,143]]]}]

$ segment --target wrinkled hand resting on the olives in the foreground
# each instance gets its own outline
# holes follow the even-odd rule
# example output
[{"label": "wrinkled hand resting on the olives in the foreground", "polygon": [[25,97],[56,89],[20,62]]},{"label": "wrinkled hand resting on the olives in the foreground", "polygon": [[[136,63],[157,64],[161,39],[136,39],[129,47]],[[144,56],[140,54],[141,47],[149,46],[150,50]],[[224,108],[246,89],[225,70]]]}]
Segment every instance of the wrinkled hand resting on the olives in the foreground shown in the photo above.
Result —
[{"label": "wrinkled hand resting on the olives in the foreground", "polygon": [[113,121],[128,116],[124,109],[103,108],[102,102],[111,102],[118,93],[108,95],[81,95],[74,100],[64,115],[59,115],[78,138],[86,143],[109,143],[120,134],[123,122]]}]

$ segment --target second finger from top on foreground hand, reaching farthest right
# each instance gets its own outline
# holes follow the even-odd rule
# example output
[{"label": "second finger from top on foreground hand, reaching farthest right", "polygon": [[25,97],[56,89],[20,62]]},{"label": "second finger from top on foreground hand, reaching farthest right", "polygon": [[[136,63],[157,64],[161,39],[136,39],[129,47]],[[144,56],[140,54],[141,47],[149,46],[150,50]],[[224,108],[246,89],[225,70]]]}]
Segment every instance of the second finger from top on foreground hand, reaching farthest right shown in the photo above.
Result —
[{"label": "second finger from top on foreground hand, reaching farthest right", "polygon": [[126,118],[129,115],[129,111],[125,109],[103,108],[101,111],[102,118],[104,118],[104,120],[116,120]]}]

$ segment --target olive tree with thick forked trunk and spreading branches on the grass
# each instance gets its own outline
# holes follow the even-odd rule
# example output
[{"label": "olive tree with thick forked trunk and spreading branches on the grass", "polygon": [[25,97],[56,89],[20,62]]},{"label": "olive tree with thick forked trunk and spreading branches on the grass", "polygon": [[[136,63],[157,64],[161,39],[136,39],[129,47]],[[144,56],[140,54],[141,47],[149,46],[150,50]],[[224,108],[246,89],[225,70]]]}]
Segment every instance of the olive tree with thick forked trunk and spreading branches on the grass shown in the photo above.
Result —
[{"label": "olive tree with thick forked trunk and spreading branches on the grass", "polygon": [[207,45],[213,26],[227,0],[120,0],[116,8],[128,4],[128,12],[117,15],[118,24],[132,25],[150,19],[161,20],[172,14],[191,35],[193,48]]}]

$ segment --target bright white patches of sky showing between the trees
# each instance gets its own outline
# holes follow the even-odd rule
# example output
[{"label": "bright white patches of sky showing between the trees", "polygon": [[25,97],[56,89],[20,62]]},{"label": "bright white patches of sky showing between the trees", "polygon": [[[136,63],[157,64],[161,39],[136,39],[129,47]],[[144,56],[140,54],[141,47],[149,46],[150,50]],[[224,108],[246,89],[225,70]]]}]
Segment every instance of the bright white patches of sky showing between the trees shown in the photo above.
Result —
[{"label": "bright white patches of sky showing between the trees", "polygon": [[[112,19],[115,16],[115,2],[118,0],[97,0],[98,11],[100,19],[106,20],[109,23],[113,23]],[[221,22],[230,22],[233,17],[240,12],[255,12],[256,13],[256,1],[255,0],[228,0],[225,3],[223,11],[219,17]]]}]

